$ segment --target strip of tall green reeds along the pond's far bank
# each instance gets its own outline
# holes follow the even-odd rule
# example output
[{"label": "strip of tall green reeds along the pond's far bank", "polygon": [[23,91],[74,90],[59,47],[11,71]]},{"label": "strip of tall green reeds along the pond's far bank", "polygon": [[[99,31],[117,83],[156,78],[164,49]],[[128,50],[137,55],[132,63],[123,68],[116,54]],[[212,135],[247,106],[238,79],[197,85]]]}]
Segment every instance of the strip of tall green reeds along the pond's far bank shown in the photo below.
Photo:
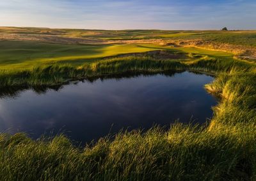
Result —
[{"label": "strip of tall green reeds along the pond's far bank", "polygon": [[[209,73],[227,71],[235,65],[246,67],[233,59],[225,61],[205,56],[191,61],[173,59],[154,59],[150,56],[127,56],[104,59],[90,64],[74,67],[69,64],[56,64],[36,67],[31,70],[0,71],[0,87],[8,86],[47,86],[62,84],[70,79],[90,78],[100,75],[120,74],[124,72],[164,72],[168,70],[196,70]],[[244,63],[245,64],[245,63]],[[236,66],[237,66],[236,65]]]}]

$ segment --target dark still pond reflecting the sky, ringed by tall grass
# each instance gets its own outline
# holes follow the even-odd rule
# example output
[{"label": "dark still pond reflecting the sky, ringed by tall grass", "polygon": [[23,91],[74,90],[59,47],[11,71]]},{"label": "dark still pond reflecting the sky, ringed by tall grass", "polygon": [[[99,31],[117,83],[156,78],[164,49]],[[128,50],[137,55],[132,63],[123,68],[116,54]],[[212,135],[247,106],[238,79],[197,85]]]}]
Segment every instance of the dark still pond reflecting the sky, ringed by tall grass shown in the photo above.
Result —
[{"label": "dark still pond reflecting the sky, ringed by tall grass", "polygon": [[175,122],[204,123],[216,98],[204,90],[212,77],[182,72],[96,79],[60,90],[4,90],[0,93],[0,131],[65,134],[91,141],[120,129],[148,129]]}]

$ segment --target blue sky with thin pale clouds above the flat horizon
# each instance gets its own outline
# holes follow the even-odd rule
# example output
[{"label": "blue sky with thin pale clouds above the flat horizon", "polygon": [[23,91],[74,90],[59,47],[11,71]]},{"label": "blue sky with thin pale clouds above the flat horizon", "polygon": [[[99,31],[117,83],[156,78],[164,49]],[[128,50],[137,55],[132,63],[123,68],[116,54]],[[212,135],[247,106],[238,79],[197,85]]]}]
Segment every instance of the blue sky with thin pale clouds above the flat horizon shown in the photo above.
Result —
[{"label": "blue sky with thin pale clouds above the flat horizon", "polygon": [[0,26],[256,29],[256,0],[0,0]]}]

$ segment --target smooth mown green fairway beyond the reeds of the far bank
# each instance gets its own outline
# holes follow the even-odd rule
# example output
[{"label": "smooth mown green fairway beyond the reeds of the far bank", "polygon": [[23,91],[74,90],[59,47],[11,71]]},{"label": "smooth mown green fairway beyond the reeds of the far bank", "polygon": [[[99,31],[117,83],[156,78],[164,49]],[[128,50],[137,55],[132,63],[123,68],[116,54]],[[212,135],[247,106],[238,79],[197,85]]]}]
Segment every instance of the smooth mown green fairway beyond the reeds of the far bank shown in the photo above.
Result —
[{"label": "smooth mown green fairway beyond the reeds of the far bank", "polygon": [[0,42],[0,67],[5,70],[23,70],[56,63],[77,66],[108,56],[155,50],[190,52],[215,57],[233,56],[227,52],[154,44],[64,45],[3,41]]}]

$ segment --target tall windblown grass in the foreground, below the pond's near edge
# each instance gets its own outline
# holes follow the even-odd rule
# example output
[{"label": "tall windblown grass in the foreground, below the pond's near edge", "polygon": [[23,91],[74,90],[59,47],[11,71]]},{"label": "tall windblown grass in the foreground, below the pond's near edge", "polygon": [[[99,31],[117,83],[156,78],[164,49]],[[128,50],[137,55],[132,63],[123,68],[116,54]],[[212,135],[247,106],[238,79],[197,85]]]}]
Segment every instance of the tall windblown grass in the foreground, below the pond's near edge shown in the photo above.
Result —
[{"label": "tall windblown grass in the foreground, below the pond's near edge", "polygon": [[173,125],[117,134],[75,148],[64,136],[33,141],[1,134],[3,180],[248,180],[256,127],[205,130]]}]

